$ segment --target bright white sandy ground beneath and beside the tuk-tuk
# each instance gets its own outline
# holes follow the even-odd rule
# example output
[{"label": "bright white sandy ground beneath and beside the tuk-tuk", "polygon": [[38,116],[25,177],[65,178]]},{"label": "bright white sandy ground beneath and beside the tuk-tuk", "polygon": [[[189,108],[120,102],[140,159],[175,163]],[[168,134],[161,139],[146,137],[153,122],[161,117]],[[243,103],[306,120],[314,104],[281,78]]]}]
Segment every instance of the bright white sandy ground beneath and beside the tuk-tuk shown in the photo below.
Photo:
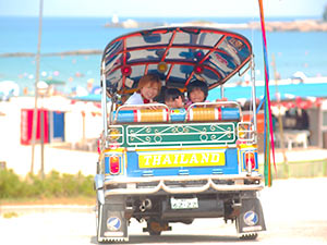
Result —
[{"label": "bright white sandy ground beneath and beside the tuk-tuk", "polygon": [[[274,182],[261,192],[267,231],[256,241],[240,241],[233,223],[196,219],[191,225],[172,223],[159,237],[142,232],[134,219],[128,244],[327,244],[327,177]],[[322,192],[319,192],[322,189]],[[36,207],[34,211],[4,218],[0,206],[0,244],[96,244],[93,207]]]}]

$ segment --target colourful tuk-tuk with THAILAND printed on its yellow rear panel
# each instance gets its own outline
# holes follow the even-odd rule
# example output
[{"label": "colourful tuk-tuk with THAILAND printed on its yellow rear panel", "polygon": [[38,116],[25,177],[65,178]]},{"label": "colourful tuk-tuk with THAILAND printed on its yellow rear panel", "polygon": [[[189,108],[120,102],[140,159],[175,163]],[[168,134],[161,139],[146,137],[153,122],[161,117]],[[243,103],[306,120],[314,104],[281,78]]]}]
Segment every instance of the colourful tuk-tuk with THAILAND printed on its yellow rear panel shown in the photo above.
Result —
[{"label": "colourful tuk-tuk with THAILAND printed on its yellow rear panel", "polygon": [[[253,60],[244,36],[208,27],[152,28],[109,42],[101,61],[104,132],[95,175],[98,242],[128,241],[132,218],[145,221],[149,235],[196,218],[235,221],[241,238],[266,230],[257,197],[264,183],[254,78],[251,121],[223,96],[223,84],[253,69]],[[217,100],[178,109],[124,105],[145,74],[182,93],[202,81]]]}]

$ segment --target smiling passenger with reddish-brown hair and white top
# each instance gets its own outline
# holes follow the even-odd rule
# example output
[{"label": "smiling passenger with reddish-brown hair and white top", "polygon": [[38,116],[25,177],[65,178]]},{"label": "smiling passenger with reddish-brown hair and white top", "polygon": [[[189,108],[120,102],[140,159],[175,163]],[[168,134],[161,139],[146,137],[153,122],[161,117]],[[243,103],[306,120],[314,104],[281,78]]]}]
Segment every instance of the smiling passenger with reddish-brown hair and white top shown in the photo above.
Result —
[{"label": "smiling passenger with reddish-brown hair and white top", "polygon": [[155,102],[154,98],[159,95],[161,81],[155,74],[147,74],[141,77],[137,91],[135,91],[124,105],[143,105]]}]

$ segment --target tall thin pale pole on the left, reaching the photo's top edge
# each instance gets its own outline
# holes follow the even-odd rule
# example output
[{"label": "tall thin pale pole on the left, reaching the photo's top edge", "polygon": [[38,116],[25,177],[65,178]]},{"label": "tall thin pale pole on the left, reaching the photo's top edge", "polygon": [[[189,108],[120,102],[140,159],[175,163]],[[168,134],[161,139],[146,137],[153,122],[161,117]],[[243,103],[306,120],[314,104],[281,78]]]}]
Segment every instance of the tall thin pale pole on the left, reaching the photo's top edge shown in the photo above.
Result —
[{"label": "tall thin pale pole on the left, reaching the photo's top edge", "polygon": [[41,33],[43,33],[43,10],[44,0],[39,0],[39,15],[38,15],[38,42],[37,42],[37,53],[36,53],[36,72],[35,72],[35,106],[33,113],[33,124],[32,124],[32,162],[31,162],[31,173],[34,172],[34,151],[35,151],[35,138],[36,138],[36,127],[37,127],[37,99],[38,89],[37,84],[39,82],[39,61],[40,61],[40,46],[41,46]]}]

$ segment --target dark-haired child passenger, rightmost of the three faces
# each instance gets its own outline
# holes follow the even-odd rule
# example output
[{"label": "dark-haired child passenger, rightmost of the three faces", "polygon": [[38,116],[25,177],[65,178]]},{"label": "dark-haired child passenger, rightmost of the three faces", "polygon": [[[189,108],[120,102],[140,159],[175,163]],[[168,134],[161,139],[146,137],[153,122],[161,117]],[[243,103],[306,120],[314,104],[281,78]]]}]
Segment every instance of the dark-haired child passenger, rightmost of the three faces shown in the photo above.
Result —
[{"label": "dark-haired child passenger, rightmost of the three faces", "polygon": [[196,102],[205,102],[208,96],[208,86],[205,82],[202,81],[193,81],[187,86],[187,102],[186,107]]}]

